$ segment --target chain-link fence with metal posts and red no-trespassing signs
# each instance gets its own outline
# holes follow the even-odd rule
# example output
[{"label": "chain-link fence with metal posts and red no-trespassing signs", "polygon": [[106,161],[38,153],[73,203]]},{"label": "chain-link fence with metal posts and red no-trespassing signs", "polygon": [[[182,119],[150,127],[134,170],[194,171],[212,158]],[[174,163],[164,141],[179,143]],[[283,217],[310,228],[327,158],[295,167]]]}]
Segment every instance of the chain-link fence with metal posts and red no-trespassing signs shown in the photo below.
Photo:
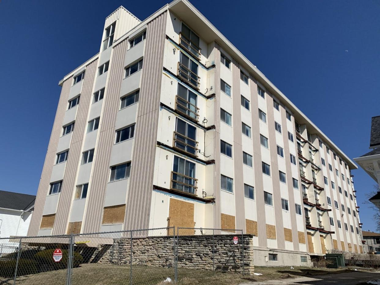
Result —
[{"label": "chain-link fence with metal posts and red no-trespassing signs", "polygon": [[253,273],[252,236],[170,227],[0,239],[0,284],[180,283],[197,270]]}]

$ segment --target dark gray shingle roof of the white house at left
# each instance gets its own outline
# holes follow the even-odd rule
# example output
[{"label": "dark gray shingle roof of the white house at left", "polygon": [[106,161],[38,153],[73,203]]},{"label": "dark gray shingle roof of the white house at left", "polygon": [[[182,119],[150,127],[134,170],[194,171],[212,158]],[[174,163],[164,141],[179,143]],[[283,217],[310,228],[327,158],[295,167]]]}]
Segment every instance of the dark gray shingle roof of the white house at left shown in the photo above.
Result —
[{"label": "dark gray shingle roof of the white house at left", "polygon": [[0,190],[0,208],[27,210],[34,205],[35,195]]}]

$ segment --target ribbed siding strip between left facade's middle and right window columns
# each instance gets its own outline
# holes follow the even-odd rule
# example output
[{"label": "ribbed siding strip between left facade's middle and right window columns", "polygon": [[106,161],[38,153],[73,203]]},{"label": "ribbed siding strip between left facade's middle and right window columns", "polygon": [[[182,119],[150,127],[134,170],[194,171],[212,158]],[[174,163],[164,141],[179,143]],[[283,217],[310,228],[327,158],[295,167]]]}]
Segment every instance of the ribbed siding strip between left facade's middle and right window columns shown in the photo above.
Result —
[{"label": "ribbed siding strip between left facade's middle and right window columns", "polygon": [[128,39],[113,46],[109,79],[103,99],[102,117],[98,132],[98,141],[93,160],[92,178],[87,194],[82,232],[92,233],[100,230],[103,204],[109,175],[109,161],[115,138],[115,122],[120,103],[120,87],[123,79],[124,57]]}]

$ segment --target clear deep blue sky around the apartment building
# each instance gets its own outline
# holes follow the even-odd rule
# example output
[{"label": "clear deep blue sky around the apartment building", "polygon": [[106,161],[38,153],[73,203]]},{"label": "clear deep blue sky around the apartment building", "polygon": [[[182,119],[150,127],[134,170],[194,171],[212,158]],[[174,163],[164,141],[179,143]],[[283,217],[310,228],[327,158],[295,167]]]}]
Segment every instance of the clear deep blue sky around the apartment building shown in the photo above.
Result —
[{"label": "clear deep blue sky around the apartment building", "polygon": [[[0,1],[1,190],[36,194],[58,81],[99,51],[105,17],[123,5],[145,19],[166,3]],[[380,115],[380,2],[192,3],[350,158],[369,151],[370,118]],[[375,230],[362,204],[375,182],[353,174],[363,230]]]}]

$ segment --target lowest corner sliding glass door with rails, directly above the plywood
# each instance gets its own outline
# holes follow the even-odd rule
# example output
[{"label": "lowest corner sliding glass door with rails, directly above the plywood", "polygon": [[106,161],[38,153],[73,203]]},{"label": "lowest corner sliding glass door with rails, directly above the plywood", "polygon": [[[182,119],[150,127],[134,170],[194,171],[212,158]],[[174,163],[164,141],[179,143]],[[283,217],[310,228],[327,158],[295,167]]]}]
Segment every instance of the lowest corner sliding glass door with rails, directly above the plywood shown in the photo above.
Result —
[{"label": "lowest corner sliding glass door with rails, directly above the plywood", "polygon": [[171,188],[196,194],[195,163],[174,156]]}]

